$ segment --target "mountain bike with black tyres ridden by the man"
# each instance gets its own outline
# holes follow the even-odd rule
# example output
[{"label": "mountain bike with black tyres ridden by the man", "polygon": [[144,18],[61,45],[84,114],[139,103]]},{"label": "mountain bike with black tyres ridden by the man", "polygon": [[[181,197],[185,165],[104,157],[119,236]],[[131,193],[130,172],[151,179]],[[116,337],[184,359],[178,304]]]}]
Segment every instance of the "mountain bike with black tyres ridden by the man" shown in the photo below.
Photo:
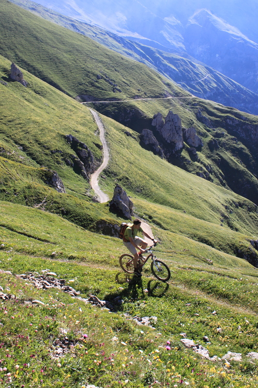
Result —
[{"label": "mountain bike with black tyres ridden by the man", "polygon": [[[151,262],[151,271],[152,274],[162,282],[167,282],[170,279],[170,270],[163,261],[156,258],[156,256],[152,253],[153,246],[156,246],[157,243],[154,242],[153,245],[151,245],[149,248],[145,249],[144,253],[149,253],[149,255],[146,258],[139,258],[137,263],[137,270],[142,272],[143,266],[147,263],[149,259],[152,259]],[[134,257],[132,255],[129,255],[127,253],[123,254],[119,258],[119,263],[121,266],[121,269],[126,272],[127,274],[133,274],[134,273]],[[148,272],[148,270],[146,270]]]}]

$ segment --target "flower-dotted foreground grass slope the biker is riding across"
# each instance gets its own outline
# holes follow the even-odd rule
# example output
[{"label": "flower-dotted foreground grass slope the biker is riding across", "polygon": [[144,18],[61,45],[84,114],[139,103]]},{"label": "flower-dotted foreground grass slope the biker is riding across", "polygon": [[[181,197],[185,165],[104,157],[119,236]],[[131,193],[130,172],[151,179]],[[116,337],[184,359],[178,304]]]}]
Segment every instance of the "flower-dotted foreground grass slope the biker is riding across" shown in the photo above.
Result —
[{"label": "flower-dotted foreground grass slope the biker is riding across", "polygon": [[[163,238],[158,256],[166,259],[172,272],[169,284],[159,283],[152,276],[138,281],[129,277],[128,283],[117,268],[117,257],[123,250],[118,239],[90,233],[41,210],[3,201],[0,207],[3,270],[20,274],[48,269],[81,296],[93,293],[117,309],[108,314],[59,290],[36,290],[26,281],[1,273],[4,292],[16,298],[15,302],[1,303],[0,332],[4,336],[0,358],[1,367],[6,368],[0,371],[3,387],[10,386],[8,377],[14,387],[26,388],[31,383],[49,388],[81,388],[87,384],[156,388],[160,383],[165,387],[182,382],[198,388],[256,387],[257,362],[250,363],[246,355],[258,350],[257,270],[246,261],[210,248],[210,257],[224,258],[227,270],[215,261],[213,266],[208,265],[197,258],[201,246],[206,249],[203,244],[191,242],[189,250],[175,252],[169,241],[171,233],[156,228],[156,234]],[[180,239],[185,246],[185,238],[175,236],[177,248]],[[49,259],[53,251],[56,256]],[[117,296],[123,299],[122,305],[114,302]],[[45,306],[24,304],[35,299]],[[156,330],[135,325],[124,313],[155,315]],[[242,353],[243,361],[226,365],[203,360],[184,349],[182,331],[207,347],[211,356],[221,357],[229,350]],[[88,338],[83,340],[83,334]],[[205,344],[204,335],[211,344]],[[56,340],[64,337],[71,341],[67,354],[51,358]],[[165,348],[167,340],[170,350]],[[26,350],[22,353],[20,349]],[[19,366],[18,373],[15,365]]]}]

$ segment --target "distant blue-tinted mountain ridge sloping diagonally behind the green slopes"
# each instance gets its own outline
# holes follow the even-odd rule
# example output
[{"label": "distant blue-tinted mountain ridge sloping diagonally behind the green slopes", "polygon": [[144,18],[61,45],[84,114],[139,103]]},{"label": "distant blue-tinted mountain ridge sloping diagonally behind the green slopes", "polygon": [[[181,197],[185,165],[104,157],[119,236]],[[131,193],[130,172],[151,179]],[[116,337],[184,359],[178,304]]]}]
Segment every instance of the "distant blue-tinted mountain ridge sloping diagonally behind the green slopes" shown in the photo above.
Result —
[{"label": "distant blue-tinted mountain ridge sloping diagonally behind the green slopes", "polygon": [[61,15],[30,0],[11,1],[36,15],[86,35],[109,49],[148,65],[197,97],[258,114],[257,94],[186,53],[182,52],[182,57],[175,50],[164,51],[161,45],[159,46],[163,50],[125,39],[113,32]]}]

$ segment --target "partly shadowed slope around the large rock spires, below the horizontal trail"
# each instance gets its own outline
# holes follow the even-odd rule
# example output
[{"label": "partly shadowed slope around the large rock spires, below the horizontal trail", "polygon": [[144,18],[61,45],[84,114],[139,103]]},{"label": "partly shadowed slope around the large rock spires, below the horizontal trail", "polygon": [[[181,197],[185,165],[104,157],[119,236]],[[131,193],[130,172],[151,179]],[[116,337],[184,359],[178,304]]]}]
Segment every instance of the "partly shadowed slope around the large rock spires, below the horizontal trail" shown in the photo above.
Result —
[{"label": "partly shadowed slope around the large rock spires, below the horizontal trail", "polygon": [[[257,203],[258,163],[255,151],[257,146],[255,135],[258,128],[257,116],[240,113],[236,109],[198,98],[135,101],[126,105],[123,103],[92,104],[92,106],[137,132],[149,128],[158,139],[159,134],[151,126],[151,118],[157,112],[162,113],[165,118],[168,111],[172,110],[173,113],[180,116],[183,127],[194,126],[197,129],[197,134],[201,136],[204,143],[202,150],[197,152],[199,161],[191,161],[187,152],[188,146],[185,145],[181,159],[175,159],[173,163],[178,163],[181,168],[193,174],[197,172],[207,173],[209,179],[214,183]],[[199,109],[207,119],[211,120],[213,129],[197,120],[196,113]],[[137,114],[137,111],[141,112],[142,117]],[[131,112],[132,117],[130,114],[126,117],[126,112]],[[235,122],[235,125],[230,126],[228,122]],[[250,127],[248,128],[248,126]],[[215,138],[216,131],[224,132],[224,137]],[[211,150],[209,144],[214,140],[219,147]]]}]

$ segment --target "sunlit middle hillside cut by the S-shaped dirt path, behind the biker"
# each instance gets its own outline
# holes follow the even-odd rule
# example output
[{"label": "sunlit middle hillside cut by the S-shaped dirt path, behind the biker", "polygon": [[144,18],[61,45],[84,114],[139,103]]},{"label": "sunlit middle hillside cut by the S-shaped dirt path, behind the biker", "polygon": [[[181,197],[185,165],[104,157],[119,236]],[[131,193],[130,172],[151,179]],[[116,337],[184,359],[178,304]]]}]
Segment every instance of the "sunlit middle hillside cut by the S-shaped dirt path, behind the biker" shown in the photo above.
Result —
[{"label": "sunlit middle hillside cut by the S-shaped dirt path, behind the biker", "polygon": [[[1,58],[2,75],[9,66],[10,62]],[[89,167],[89,161],[87,164],[80,159],[83,144],[87,143],[96,162],[93,170],[100,159],[96,124],[89,109],[26,71],[24,78],[27,87],[4,76],[2,80],[8,82],[0,83],[4,96],[0,127],[1,199],[48,210],[84,228],[113,234],[112,225],[119,224],[121,218],[111,213],[107,205],[92,202],[88,179],[79,170],[82,161],[86,170]],[[17,105],[18,117],[10,109]],[[140,146],[136,132],[126,136],[128,128],[101,117],[111,159],[100,184],[110,197],[114,183],[119,182],[133,197],[150,201],[152,209],[154,203],[170,208],[157,207],[156,214],[151,215],[144,210],[144,204],[139,209],[137,206],[137,212],[145,213],[142,216],[153,217],[154,225],[256,265],[257,253],[250,243],[258,226],[256,205],[153,155]],[[68,142],[67,135],[71,133],[81,142],[78,148]],[[60,183],[58,187],[52,179],[56,172],[63,186]]]}]

